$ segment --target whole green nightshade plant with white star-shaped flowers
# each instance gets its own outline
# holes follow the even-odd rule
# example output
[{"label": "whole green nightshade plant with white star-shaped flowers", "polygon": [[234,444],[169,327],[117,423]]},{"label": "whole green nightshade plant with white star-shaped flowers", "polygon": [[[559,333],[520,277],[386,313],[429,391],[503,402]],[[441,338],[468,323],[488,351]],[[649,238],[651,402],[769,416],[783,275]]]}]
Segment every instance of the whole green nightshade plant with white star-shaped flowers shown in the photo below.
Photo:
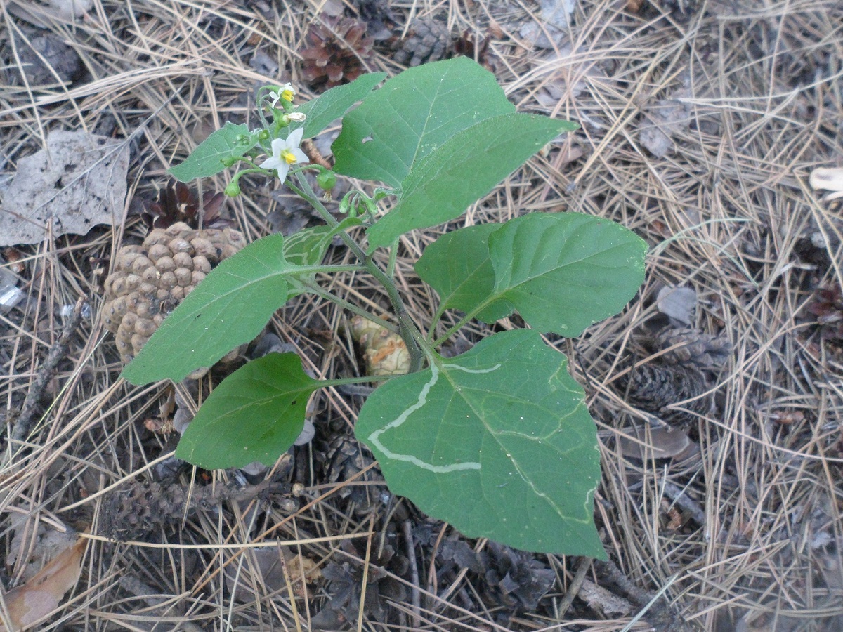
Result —
[{"label": "whole green nightshade plant with white star-shaped flowers", "polygon": [[[571,212],[460,228],[416,262],[440,299],[433,322],[420,323],[374,251],[394,254],[402,234],[459,217],[577,126],[516,112],[493,75],[467,58],[411,68],[373,89],[383,80],[384,73],[363,75],[298,107],[289,84],[262,88],[262,126],[226,123],[170,169],[185,181],[236,165],[228,195],[239,194],[242,174],[280,179],[325,225],[260,238],[224,260],[164,319],[123,376],[135,384],[178,381],[253,340],[290,297],[330,298],[317,275],[371,275],[389,296],[394,322],[388,326],[411,356],[410,372],[381,382],[357,419],[357,438],[378,458],[389,488],[466,536],[603,558],[593,522],[597,434],[566,357],[541,334],[577,336],[618,313],[642,283],[646,245],[616,223]],[[338,117],[331,172],[308,163],[299,143]],[[346,217],[338,222],[304,177],[307,169],[319,172],[325,188],[335,174],[379,186],[347,193],[340,203]],[[355,227],[365,238],[352,238]],[[335,236],[356,263],[322,265]],[[437,336],[447,310],[459,310],[461,318]],[[494,323],[515,312],[529,328],[489,335],[456,357],[439,355],[440,345],[470,320]],[[371,381],[320,381],[295,354],[261,357],[214,389],[176,456],[207,469],[270,465],[302,431],[315,391]]]}]

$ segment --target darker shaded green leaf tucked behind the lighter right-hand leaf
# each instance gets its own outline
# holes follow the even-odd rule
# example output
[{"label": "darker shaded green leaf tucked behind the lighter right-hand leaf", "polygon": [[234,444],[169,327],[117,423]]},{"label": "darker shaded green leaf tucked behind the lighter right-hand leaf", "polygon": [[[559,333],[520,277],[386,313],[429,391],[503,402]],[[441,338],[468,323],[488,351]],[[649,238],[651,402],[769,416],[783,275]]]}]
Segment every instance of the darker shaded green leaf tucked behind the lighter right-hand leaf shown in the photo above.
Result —
[{"label": "darker shaded green leaf tucked behind the lighter right-hand leaf", "polygon": [[[416,272],[435,289],[444,308],[479,305],[495,287],[495,269],[489,257],[489,236],[501,224],[478,224],[445,233],[427,246],[416,261]],[[484,323],[508,316],[507,305],[491,306],[477,314]]]}]

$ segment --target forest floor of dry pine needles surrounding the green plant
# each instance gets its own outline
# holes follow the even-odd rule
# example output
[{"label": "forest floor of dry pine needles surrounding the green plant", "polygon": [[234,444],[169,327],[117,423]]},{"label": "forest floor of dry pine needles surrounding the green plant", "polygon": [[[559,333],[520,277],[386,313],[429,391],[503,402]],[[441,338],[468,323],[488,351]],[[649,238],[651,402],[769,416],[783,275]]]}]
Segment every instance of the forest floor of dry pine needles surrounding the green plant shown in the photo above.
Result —
[{"label": "forest floor of dry pine needles surrounding the green plant", "polygon": [[[111,225],[3,242],[24,292],[0,314],[3,585],[24,585],[77,532],[88,540],[78,582],[37,629],[843,629],[843,216],[808,185],[813,169],[843,167],[839,0],[57,4],[67,11],[0,3],[0,216],[22,159],[56,130],[123,142],[128,192]],[[358,9],[381,38],[366,70],[395,75],[396,51],[427,61],[437,42],[453,55],[470,41],[518,110],[581,126],[458,221],[402,238],[397,275],[419,322],[436,297],[413,263],[446,228],[572,211],[647,240],[646,281],[623,313],[547,340],[599,428],[608,564],[466,539],[389,495],[352,435],[357,395],[321,395],[314,440],[270,472],[196,472],[172,468],[177,437],[160,431],[173,385],[119,378],[103,281],[116,249],[143,238],[143,201],[209,131],[250,121],[256,88],[316,94],[298,55],[309,26]],[[416,31],[432,44],[407,43]],[[227,212],[248,240],[314,222],[276,184],[241,185]],[[333,290],[387,304],[363,277]],[[80,298],[89,311],[67,329]],[[346,319],[302,296],[268,331],[319,376],[352,375]],[[454,346],[487,330],[471,324]],[[683,348],[698,370],[666,361]],[[697,380],[684,399],[655,395],[685,413],[644,410],[662,424],[634,409],[619,387],[633,364]],[[24,449],[9,441],[22,414]],[[272,485],[258,494],[261,479]],[[255,493],[217,502],[208,490],[223,484]],[[105,518],[127,512],[146,533],[106,538]]]}]

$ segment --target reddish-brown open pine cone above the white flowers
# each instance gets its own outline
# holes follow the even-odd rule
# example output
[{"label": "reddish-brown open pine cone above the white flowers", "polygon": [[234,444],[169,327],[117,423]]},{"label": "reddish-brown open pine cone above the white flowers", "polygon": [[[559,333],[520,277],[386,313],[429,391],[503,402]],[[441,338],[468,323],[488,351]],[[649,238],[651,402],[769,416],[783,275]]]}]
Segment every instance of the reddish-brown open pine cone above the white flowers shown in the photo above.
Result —
[{"label": "reddish-brown open pine cone above the white flowers", "polygon": [[313,24],[298,51],[304,60],[302,77],[311,88],[333,88],[350,83],[364,71],[362,60],[372,52],[373,40],[366,36],[366,24],[352,18],[327,18]]}]

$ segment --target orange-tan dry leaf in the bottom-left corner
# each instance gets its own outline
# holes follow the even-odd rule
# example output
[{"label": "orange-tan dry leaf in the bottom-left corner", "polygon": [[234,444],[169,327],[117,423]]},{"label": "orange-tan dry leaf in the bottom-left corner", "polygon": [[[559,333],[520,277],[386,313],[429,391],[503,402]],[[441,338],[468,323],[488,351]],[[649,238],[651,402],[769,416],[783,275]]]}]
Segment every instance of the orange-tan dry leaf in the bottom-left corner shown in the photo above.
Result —
[{"label": "orange-tan dry leaf in the bottom-left corner", "polygon": [[[87,538],[79,538],[76,544],[56,555],[30,581],[6,593],[3,598],[13,630],[27,628],[58,608],[64,594],[76,586],[87,545]],[[0,624],[0,632],[6,632],[5,625]]]}]

